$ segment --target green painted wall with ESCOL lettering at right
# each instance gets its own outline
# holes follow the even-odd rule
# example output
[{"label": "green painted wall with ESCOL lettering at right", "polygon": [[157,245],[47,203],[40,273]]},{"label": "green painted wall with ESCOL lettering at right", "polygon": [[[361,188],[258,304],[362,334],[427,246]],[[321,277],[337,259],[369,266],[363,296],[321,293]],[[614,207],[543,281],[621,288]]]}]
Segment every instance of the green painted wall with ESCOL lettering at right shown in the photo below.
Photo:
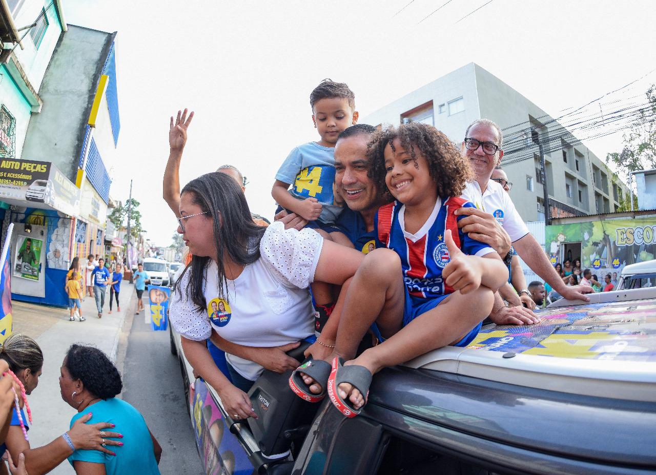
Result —
[{"label": "green painted wall with ESCOL lettering at right", "polygon": [[546,251],[552,263],[560,260],[562,243],[581,243],[581,267],[595,274],[620,272],[626,264],[656,255],[656,217],[596,220],[546,226]]}]

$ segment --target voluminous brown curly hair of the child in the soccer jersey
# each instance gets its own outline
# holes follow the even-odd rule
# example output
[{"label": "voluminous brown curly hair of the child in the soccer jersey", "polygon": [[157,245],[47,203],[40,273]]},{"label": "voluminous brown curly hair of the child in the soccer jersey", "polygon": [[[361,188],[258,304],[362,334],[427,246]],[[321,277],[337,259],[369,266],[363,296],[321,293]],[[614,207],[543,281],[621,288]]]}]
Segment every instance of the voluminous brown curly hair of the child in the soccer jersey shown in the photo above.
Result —
[{"label": "voluminous brown curly hair of the child in the soccer jersey", "polygon": [[[438,196],[446,199],[449,196],[461,196],[466,182],[474,178],[469,161],[464,159],[460,151],[449,138],[432,125],[420,122],[401,124],[399,127],[389,126],[376,131],[367,146],[369,178],[372,178],[381,197],[389,197],[390,192],[385,184],[384,150],[394,148],[394,139],[398,138],[401,146],[409,152],[417,165],[417,156],[421,154],[428,162],[428,171],[435,182]],[[388,200],[390,201],[390,200]]]}]

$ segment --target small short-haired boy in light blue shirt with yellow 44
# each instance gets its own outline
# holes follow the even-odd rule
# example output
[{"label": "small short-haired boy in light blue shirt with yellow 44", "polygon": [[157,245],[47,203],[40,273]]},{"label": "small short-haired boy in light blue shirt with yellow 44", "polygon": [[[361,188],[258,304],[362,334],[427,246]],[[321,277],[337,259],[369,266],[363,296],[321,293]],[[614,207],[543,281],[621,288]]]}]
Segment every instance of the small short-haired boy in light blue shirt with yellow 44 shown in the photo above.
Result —
[{"label": "small short-haired boy in light blue shirt with yellow 44", "polygon": [[[342,207],[335,203],[333,184],[337,136],[358,123],[355,94],[344,83],[324,79],[310,93],[310,106],[321,140],[292,150],[276,173],[271,190],[279,205],[276,213],[287,209],[307,220],[305,227],[316,230],[324,239],[353,247],[350,239],[335,226]],[[333,310],[335,296],[331,285],[323,282],[312,283],[312,295],[318,314],[316,331],[320,332]]]}]

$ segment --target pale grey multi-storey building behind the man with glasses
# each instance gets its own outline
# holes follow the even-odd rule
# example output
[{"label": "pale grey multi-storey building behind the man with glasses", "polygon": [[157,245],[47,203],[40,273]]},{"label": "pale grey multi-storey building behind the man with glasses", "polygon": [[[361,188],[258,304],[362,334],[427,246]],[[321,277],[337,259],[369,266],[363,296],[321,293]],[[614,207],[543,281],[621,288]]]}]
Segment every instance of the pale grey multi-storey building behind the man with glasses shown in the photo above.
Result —
[{"label": "pale grey multi-storey building behind the man with glasses", "polygon": [[626,185],[573,133],[474,63],[395,100],[361,122],[429,123],[460,147],[468,125],[481,118],[494,121],[503,131],[501,166],[513,183],[510,196],[525,221],[544,220],[545,180],[552,218],[612,213],[628,195]]}]

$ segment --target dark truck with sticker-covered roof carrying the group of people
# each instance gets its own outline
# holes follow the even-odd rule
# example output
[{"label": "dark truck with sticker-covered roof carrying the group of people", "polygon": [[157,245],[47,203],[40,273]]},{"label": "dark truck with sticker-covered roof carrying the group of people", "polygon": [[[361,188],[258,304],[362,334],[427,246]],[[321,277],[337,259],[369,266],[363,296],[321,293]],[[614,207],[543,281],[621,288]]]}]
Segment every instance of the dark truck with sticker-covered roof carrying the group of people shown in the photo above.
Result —
[{"label": "dark truck with sticker-covered roof carrying the group of people", "polygon": [[234,421],[171,351],[208,475],[656,473],[656,289],[590,299],[380,371],[354,419],[265,371]]}]

